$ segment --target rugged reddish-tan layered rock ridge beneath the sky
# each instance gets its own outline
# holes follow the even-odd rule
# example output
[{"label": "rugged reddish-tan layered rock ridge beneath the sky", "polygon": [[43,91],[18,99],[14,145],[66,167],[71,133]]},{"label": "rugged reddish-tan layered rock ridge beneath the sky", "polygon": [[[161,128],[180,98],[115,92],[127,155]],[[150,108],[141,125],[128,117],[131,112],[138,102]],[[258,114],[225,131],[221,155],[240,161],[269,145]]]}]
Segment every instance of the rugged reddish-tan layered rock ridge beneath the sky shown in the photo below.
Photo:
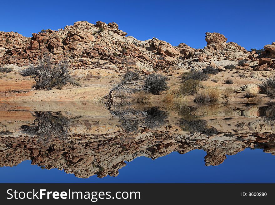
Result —
[{"label": "rugged reddish-tan layered rock ridge beneath the sky", "polygon": [[75,22],[58,31],[47,29],[33,33],[32,38],[1,32],[0,64],[36,64],[39,56],[49,52],[56,61],[69,59],[72,68],[106,69],[118,73],[137,69],[148,73],[181,68],[202,70],[215,60],[237,62],[254,55],[236,43],[226,43],[227,38],[219,33],[206,33],[204,49],[194,49],[184,43],[172,46],[157,38],[139,41],[126,35],[118,29],[117,23],[100,21],[96,24]]}]

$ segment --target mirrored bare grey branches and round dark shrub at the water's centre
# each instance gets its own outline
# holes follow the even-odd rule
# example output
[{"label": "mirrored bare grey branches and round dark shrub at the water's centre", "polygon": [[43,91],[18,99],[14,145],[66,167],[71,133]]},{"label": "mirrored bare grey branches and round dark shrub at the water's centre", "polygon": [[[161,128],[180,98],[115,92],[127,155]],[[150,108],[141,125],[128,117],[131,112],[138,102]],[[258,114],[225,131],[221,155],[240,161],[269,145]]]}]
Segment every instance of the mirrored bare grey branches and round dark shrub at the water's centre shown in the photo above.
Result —
[{"label": "mirrored bare grey branches and round dark shrub at the water's centre", "polygon": [[[124,115],[123,113],[140,113],[138,115]],[[115,115],[120,117],[120,127],[127,132],[138,131],[139,127],[147,127],[149,129],[155,129],[165,124],[165,119],[168,117],[168,113],[159,110],[158,107],[152,107],[145,111],[124,111],[123,113],[116,112]],[[114,114],[114,113],[113,113]]]}]

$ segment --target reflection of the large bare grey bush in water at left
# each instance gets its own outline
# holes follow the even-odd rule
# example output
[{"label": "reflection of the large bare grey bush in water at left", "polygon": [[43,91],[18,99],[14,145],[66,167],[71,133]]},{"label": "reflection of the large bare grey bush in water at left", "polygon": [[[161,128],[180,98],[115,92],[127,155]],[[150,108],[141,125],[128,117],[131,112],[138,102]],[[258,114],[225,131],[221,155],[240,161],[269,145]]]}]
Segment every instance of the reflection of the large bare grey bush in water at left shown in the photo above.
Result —
[{"label": "reflection of the large bare grey bush in water at left", "polygon": [[67,139],[70,122],[61,112],[35,112],[33,115],[37,118],[31,125],[21,126],[24,133],[37,135],[41,141],[48,141],[51,137]]}]

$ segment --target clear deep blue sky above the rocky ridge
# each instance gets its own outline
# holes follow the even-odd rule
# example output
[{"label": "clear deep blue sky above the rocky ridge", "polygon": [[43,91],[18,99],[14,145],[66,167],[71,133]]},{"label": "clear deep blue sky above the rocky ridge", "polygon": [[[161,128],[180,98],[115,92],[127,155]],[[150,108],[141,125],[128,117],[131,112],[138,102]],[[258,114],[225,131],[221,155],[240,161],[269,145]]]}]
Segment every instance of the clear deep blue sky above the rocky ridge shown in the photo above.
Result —
[{"label": "clear deep blue sky above the rocky ridge", "polygon": [[203,48],[205,32],[219,32],[246,49],[275,41],[275,1],[1,1],[0,31],[24,36],[76,21],[116,22],[139,40],[157,37],[174,46]]}]

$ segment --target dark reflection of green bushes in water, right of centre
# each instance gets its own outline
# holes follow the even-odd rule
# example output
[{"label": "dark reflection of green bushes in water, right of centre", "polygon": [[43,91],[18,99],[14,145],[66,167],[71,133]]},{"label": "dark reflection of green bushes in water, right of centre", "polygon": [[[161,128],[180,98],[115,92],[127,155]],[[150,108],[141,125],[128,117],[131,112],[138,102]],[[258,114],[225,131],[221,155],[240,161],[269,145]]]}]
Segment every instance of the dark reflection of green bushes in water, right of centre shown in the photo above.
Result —
[{"label": "dark reflection of green bushes in water, right of centre", "polygon": [[179,126],[185,132],[190,133],[202,133],[207,136],[217,134],[217,130],[214,127],[208,127],[206,120],[184,120],[180,121]]}]

